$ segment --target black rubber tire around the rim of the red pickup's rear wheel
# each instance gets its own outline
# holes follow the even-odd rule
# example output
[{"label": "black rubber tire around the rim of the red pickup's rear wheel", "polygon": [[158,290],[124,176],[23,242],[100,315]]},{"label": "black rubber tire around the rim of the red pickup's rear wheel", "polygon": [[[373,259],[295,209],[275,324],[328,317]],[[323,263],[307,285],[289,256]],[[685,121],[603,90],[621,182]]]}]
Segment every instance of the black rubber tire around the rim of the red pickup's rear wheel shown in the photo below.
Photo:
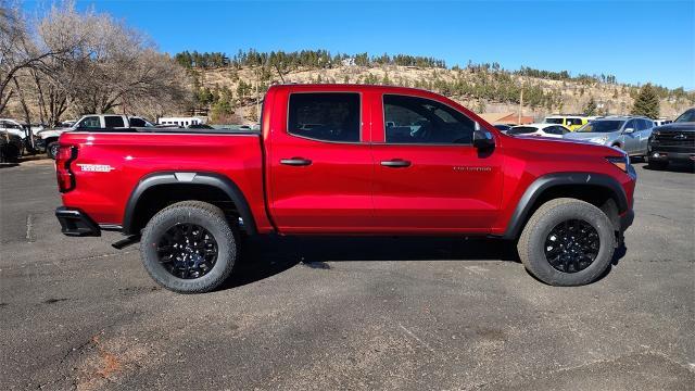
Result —
[{"label": "black rubber tire around the rim of the red pickup's rear wheel", "polygon": [[[217,243],[217,260],[212,269],[199,278],[184,279],[170,274],[157,255],[164,232],[177,224],[195,224],[205,228]],[[218,288],[231,274],[238,254],[238,240],[224,212],[201,201],[184,201],[157,212],[142,230],[140,255],[152,279],[179,293],[203,293]]]}]

